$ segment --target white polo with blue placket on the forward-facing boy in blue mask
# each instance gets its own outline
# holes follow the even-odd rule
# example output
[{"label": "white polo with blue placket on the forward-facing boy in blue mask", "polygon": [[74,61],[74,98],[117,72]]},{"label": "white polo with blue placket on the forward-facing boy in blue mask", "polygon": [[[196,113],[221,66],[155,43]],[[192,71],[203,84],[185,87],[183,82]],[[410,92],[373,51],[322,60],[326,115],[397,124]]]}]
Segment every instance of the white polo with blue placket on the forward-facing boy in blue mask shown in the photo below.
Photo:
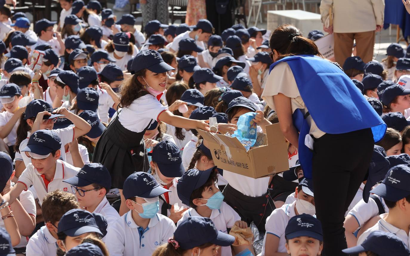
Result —
[{"label": "white polo with blue placket on the forward-facing boy in blue mask", "polygon": [[168,217],[156,214],[143,230],[132,219],[132,211],[117,219],[108,229],[105,245],[111,256],[148,256],[158,245],[173,237],[175,224]]}]

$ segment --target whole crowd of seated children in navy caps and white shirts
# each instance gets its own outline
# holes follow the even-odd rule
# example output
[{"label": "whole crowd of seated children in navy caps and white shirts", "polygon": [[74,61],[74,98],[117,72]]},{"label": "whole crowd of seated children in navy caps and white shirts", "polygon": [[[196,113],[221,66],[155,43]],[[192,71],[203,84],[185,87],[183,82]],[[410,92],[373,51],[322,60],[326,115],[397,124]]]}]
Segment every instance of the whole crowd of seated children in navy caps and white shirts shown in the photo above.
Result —
[{"label": "whole crowd of seated children in navy caps and white shirts", "polygon": [[[280,106],[292,120],[307,104],[286,65],[271,72],[289,43],[241,24],[217,35],[207,19],[144,20],[143,34],[134,16],[86,2],[59,0],[59,20],[32,30],[0,1],[0,255],[410,255],[409,48],[392,43],[381,63],[352,56],[339,67],[388,128],[360,186],[325,219],[324,198],[339,202],[341,192],[324,188],[339,181],[315,170],[312,179],[297,137],[288,139],[289,170],[255,179],[218,168],[197,131],[233,134],[252,115],[258,147],[266,126],[292,129]],[[308,116],[309,134],[321,138]],[[329,240],[343,232],[329,235],[331,217],[335,226],[344,219],[347,244],[333,254]]]}]

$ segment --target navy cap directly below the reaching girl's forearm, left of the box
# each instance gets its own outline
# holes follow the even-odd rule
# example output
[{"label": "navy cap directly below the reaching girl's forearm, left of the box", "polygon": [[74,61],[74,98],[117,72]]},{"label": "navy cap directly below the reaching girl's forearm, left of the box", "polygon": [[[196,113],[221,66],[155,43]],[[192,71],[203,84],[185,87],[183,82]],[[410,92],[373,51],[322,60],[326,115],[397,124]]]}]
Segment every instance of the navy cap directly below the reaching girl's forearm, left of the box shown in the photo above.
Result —
[{"label": "navy cap directly below the reaching girl's forearm, left of the box", "polygon": [[165,177],[181,177],[185,172],[180,149],[167,140],[155,145],[152,151],[152,161],[158,165],[159,171]]}]

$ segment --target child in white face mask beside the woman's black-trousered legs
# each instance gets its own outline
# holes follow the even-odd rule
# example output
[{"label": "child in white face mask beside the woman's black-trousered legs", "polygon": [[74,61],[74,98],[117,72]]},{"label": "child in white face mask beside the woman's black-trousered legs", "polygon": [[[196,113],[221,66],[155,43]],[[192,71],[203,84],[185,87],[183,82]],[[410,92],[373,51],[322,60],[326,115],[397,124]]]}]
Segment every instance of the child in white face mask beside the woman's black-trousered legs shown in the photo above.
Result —
[{"label": "child in white face mask beside the woman's black-trousered legs", "polygon": [[284,204],[275,209],[266,219],[266,233],[262,245],[262,256],[287,255],[285,229],[289,220],[299,214],[314,215],[314,195],[313,191],[307,186],[306,179],[297,188],[297,198],[292,204]]}]

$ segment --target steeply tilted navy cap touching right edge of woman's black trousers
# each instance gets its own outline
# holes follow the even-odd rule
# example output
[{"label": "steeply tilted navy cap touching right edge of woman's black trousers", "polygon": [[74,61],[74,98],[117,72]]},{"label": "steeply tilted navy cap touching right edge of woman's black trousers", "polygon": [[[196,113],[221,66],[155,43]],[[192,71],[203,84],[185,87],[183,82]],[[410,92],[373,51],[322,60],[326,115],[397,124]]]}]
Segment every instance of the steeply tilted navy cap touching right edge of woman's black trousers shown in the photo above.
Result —
[{"label": "steeply tilted navy cap touching right edge of woman's black trousers", "polygon": [[369,172],[367,175],[367,182],[363,188],[363,200],[369,201],[370,190],[376,183],[384,179],[387,171],[389,170],[389,160],[386,159],[386,152],[383,147],[374,145],[371,162],[369,165]]}]

